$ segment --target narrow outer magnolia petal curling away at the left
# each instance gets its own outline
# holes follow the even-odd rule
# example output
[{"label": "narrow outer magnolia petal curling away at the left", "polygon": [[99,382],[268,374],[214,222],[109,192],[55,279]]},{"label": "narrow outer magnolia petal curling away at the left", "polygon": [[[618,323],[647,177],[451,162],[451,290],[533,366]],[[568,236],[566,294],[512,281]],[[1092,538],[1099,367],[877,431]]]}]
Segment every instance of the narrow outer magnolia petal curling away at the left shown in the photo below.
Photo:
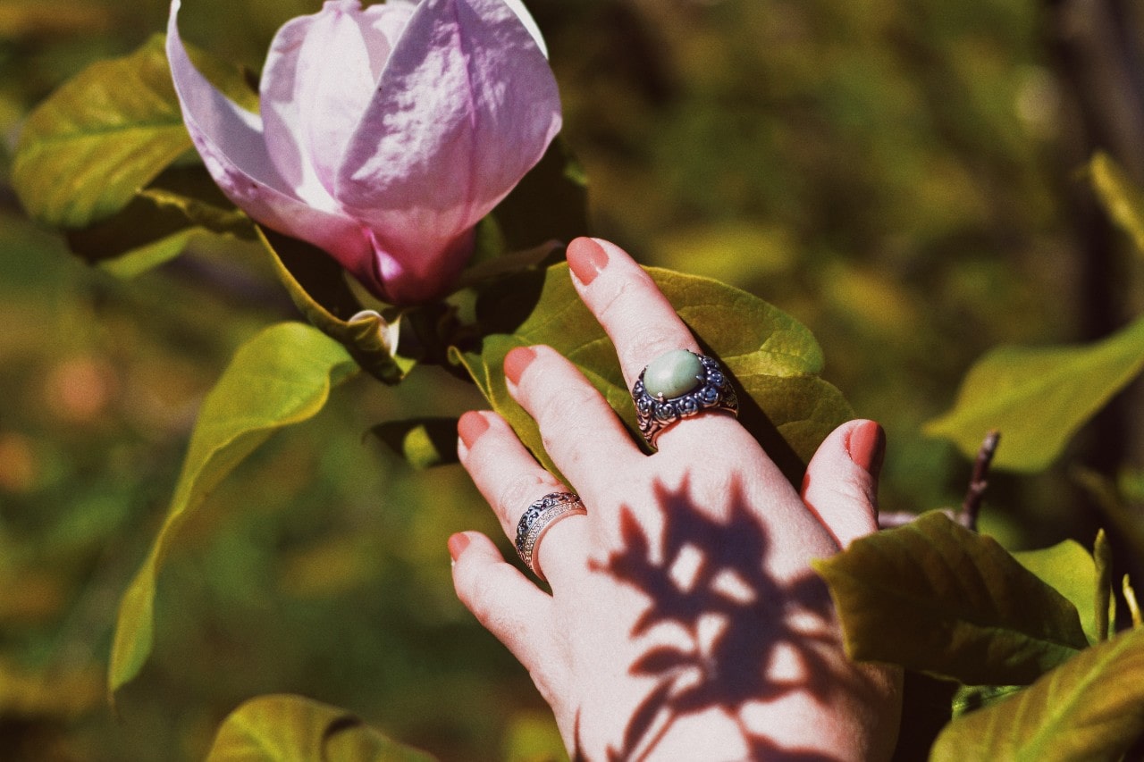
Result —
[{"label": "narrow outer magnolia petal curling away at the left", "polygon": [[297,198],[270,160],[259,116],[227,98],[191,63],[178,35],[180,5],[172,0],[167,59],[183,121],[207,172],[252,219],[328,251],[343,267],[364,270],[372,280],[372,246],[362,225]]}]

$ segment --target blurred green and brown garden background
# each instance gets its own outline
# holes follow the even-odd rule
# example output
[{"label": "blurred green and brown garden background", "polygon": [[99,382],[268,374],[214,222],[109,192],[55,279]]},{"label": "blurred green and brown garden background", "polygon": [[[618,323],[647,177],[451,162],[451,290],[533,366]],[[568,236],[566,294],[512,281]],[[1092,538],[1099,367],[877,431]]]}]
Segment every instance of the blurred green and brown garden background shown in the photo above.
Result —
[{"label": "blurred green and brown garden background", "polygon": [[[253,72],[277,26],[318,7],[185,5],[186,37]],[[961,501],[969,463],[921,430],[982,352],[1091,340],[1141,311],[1141,260],[1083,173],[1103,149],[1144,174],[1141,3],[527,5],[595,232],[804,322],[827,378],[888,430],[883,508]],[[367,434],[480,405],[431,370],[353,380],[223,483],[160,578],[154,656],[109,707],[118,600],[197,406],[241,341],[293,315],[255,248],[202,238],[117,280],[7,184],[27,112],[166,14],[0,0],[0,757],[201,759],[244,699],[297,692],[446,760],[547,759],[543,704],[452,593],[445,540],[494,532],[488,511],[458,467],[414,471]],[[1014,548],[1089,543],[1101,516],[1075,469],[1139,467],[1139,397],[1048,473],[996,474],[984,529]]]}]

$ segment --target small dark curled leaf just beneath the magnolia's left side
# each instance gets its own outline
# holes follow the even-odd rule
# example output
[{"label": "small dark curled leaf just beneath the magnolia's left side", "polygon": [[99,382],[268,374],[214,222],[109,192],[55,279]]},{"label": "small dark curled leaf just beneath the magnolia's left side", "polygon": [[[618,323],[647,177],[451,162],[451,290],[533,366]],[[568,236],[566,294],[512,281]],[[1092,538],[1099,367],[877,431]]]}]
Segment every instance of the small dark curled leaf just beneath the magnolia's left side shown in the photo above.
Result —
[{"label": "small dark curled leaf just beneath the magnolia's left side", "polygon": [[413,363],[396,355],[398,322],[362,311],[344,270],[320,248],[261,225],[256,229],[275,272],[305,319],[341,342],[378,380],[397,383],[405,378]]}]

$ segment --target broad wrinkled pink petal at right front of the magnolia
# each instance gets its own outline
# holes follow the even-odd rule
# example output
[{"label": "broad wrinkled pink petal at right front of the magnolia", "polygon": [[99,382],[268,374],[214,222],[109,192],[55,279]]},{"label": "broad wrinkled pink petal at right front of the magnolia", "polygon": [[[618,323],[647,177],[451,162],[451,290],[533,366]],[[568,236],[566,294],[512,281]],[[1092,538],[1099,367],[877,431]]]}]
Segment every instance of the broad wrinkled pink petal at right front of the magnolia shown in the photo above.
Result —
[{"label": "broad wrinkled pink petal at right front of the magnolia", "polygon": [[559,128],[556,80],[513,8],[424,0],[382,72],[334,196],[394,257],[439,254],[540,160]]}]

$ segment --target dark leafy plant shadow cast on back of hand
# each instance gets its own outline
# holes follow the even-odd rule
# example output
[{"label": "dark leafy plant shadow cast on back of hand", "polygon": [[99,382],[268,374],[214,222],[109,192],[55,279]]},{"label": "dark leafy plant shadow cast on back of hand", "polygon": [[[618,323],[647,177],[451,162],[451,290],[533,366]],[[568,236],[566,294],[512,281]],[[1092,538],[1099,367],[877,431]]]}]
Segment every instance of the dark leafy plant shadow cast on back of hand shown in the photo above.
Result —
[{"label": "dark leafy plant shadow cast on back of hand", "polygon": [[[788,581],[766,572],[768,537],[738,486],[725,518],[697,506],[686,482],[677,491],[657,486],[656,501],[664,511],[660,547],[625,506],[621,549],[590,564],[650,597],[633,638],[667,625],[682,628],[690,643],[654,645],[630,667],[657,684],[609,759],[646,759],[680,719],[722,709],[748,739],[750,759],[829,760],[811,749],[784,748],[742,719],[748,705],[792,692],[828,704],[861,689],[856,674],[840,664],[826,585],[809,567]],[[788,665],[792,657],[796,667]],[[782,659],[778,672],[788,677],[773,676],[777,658]],[[712,753],[717,756],[718,749]]]}]

